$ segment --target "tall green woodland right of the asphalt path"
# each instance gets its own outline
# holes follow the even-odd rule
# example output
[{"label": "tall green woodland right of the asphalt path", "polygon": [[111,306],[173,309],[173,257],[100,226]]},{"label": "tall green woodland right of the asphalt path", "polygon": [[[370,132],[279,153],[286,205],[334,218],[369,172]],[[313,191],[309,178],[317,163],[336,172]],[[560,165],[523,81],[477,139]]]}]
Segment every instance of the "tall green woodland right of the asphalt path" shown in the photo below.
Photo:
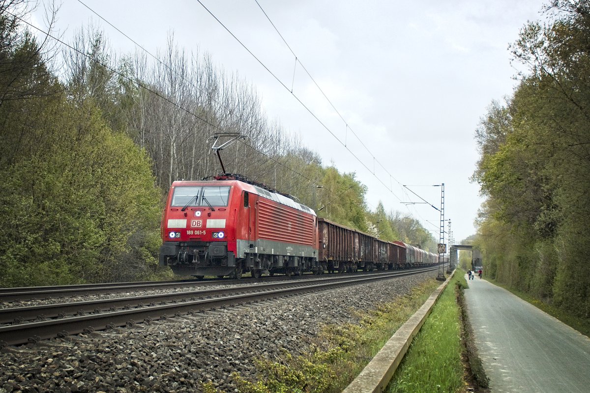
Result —
[{"label": "tall green woodland right of the asphalt path", "polygon": [[545,16],[510,46],[519,85],[476,131],[477,243],[489,277],[589,318],[590,2]]}]

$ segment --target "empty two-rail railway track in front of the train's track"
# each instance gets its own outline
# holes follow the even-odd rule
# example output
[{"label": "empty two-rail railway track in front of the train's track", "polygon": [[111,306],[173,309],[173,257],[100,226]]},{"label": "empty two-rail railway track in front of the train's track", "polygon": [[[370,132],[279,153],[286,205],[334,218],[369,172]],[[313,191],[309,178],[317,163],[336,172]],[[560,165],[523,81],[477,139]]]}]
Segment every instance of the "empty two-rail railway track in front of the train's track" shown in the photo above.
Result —
[{"label": "empty two-rail railway track in front of the train's track", "polygon": [[341,286],[360,285],[435,269],[438,267],[353,276],[335,275],[325,278],[316,276],[313,279],[278,283],[260,283],[258,281],[257,285],[237,288],[199,289],[86,302],[5,308],[0,309],[0,323],[12,324],[0,326],[0,347],[84,332],[90,333],[119,326],[132,326],[141,322],[149,323],[172,316],[245,305],[266,299],[282,298]]}]

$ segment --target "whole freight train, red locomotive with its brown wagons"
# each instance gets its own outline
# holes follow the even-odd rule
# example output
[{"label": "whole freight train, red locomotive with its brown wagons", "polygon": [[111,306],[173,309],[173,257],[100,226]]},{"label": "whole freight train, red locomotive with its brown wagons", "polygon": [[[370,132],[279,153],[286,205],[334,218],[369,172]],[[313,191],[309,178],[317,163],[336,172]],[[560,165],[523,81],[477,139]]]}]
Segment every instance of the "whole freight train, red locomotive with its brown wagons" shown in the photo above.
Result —
[{"label": "whole freight train, red locomotive with its brown wagons", "polygon": [[434,265],[438,255],[318,218],[243,176],[175,181],[162,217],[159,263],[178,275],[287,276]]}]

